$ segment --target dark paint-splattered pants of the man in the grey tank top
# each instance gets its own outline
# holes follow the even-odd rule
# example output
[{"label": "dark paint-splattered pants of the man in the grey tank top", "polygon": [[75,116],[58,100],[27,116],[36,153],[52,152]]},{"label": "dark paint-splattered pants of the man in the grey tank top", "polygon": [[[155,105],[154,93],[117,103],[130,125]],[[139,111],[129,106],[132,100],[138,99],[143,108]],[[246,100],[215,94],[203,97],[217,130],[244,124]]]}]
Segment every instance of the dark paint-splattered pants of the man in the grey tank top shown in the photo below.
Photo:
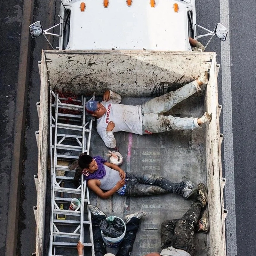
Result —
[{"label": "dark paint-splattered pants of the man in the grey tank top", "polygon": [[185,183],[173,183],[155,174],[135,175],[132,172],[126,173],[125,196],[150,196],[166,193],[182,194]]}]

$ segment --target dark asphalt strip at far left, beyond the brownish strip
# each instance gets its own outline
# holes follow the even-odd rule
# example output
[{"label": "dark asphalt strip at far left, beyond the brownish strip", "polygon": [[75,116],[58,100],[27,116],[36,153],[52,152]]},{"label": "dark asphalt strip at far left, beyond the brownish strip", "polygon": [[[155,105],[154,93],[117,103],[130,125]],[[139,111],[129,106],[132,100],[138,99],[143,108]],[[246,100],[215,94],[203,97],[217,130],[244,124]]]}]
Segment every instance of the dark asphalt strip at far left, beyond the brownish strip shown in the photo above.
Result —
[{"label": "dark asphalt strip at far left, beyond the brownish strip", "polygon": [[[11,0],[2,3],[0,9],[0,255],[5,254],[7,233],[10,170],[14,140],[14,116],[16,107],[16,86],[18,81],[21,4]],[[12,8],[10,8],[12,6]]]}]

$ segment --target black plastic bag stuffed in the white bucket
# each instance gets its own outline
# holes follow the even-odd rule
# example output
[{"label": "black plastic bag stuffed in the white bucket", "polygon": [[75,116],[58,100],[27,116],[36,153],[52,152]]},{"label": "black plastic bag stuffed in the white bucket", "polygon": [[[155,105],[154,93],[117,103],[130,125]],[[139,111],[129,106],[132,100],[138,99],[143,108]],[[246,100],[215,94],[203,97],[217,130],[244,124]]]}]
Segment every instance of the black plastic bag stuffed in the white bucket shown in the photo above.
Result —
[{"label": "black plastic bag stuffed in the white bucket", "polygon": [[124,233],[124,223],[115,218],[111,223],[104,219],[100,221],[100,229],[105,236],[116,238]]}]

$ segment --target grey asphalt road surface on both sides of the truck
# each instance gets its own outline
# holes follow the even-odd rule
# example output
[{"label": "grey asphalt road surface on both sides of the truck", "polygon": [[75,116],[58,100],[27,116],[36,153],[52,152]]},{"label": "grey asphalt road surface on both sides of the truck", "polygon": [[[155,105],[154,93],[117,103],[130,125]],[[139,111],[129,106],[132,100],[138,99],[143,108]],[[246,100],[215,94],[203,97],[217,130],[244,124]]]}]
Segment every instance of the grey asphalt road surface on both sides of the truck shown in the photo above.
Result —
[{"label": "grey asphalt road surface on both sides of the truck", "polygon": [[[59,1],[36,1],[34,5],[33,21],[41,20],[44,28],[58,22]],[[228,8],[225,8],[227,4]],[[225,106],[223,176],[229,177],[226,189],[227,217],[227,255],[228,256],[254,256],[255,235],[255,113],[253,70],[255,41],[254,21],[255,3],[246,0],[241,4],[233,0],[213,0],[207,2],[196,1],[197,23],[206,28],[213,29],[223,17],[229,22],[230,57],[225,48],[227,42],[214,38],[207,51],[215,51],[217,60],[222,65],[218,76],[219,102]],[[227,7],[226,6],[226,7]],[[220,15],[221,13],[221,15]],[[19,43],[21,31],[22,2],[8,1],[2,5],[1,17],[1,60],[0,60],[0,106],[2,120],[0,122],[1,140],[1,169],[0,169],[0,254],[4,255],[6,249],[7,213],[10,185],[10,169],[12,163],[12,143],[14,140],[13,120],[16,106],[16,86],[18,80]],[[224,19],[225,20],[225,19]],[[31,23],[33,22],[31,21]],[[227,26],[227,24],[223,24]],[[198,31],[199,32],[199,31]],[[201,40],[205,44],[206,40]],[[54,40],[57,46],[57,39]],[[226,45],[225,45],[226,44]],[[19,219],[19,238],[17,255],[27,256],[35,252],[35,218],[33,206],[36,205],[36,189],[34,174],[37,173],[37,146],[35,131],[38,130],[38,117],[36,102],[39,101],[40,81],[37,61],[41,59],[41,49],[50,49],[43,37],[32,42],[30,74],[28,83],[28,104],[25,131],[25,147],[23,155],[23,169],[21,182],[21,202]],[[221,58],[225,56],[225,59]],[[228,52],[229,53],[229,52]],[[225,70],[224,70],[225,68]],[[231,78],[228,77],[230,71]],[[225,76],[221,76],[225,74]],[[251,80],[251,81],[250,81]],[[225,83],[222,84],[222,81]],[[230,84],[229,84],[230,83]],[[9,86],[10,85],[10,86]],[[228,95],[230,86],[230,95]],[[223,95],[222,95],[222,92]],[[229,97],[232,96],[232,97]],[[232,105],[231,105],[232,104]],[[230,116],[231,114],[231,116]],[[232,117],[232,118],[231,118]],[[227,126],[229,124],[229,126]],[[231,124],[231,125],[230,125]],[[227,137],[225,137],[228,134]],[[225,148],[224,148],[225,147]],[[234,159],[232,156],[234,148]],[[224,162],[225,160],[225,162]],[[234,162],[233,162],[234,161]],[[234,166],[233,166],[234,165]],[[233,166],[233,168],[232,168]],[[232,173],[232,170],[234,172]],[[234,180],[232,180],[232,177]],[[230,193],[235,186],[235,194]],[[226,192],[227,192],[226,191]],[[235,198],[234,198],[235,195]],[[235,219],[234,219],[235,217]],[[233,221],[235,220],[235,222]],[[8,245],[7,245],[8,246]]]}]

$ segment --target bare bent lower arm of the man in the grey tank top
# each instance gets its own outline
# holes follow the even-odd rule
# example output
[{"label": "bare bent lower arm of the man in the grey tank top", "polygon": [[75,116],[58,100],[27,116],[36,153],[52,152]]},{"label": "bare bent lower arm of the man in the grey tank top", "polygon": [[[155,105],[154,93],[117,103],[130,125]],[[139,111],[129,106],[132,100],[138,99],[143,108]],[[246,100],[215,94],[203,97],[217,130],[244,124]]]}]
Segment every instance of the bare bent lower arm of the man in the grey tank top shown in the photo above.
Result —
[{"label": "bare bent lower arm of the man in the grey tank top", "polygon": [[117,190],[122,188],[125,184],[125,179],[121,179],[116,183],[116,186],[114,188],[111,188],[110,190],[103,192],[103,190],[100,188],[100,181],[96,179],[88,180],[87,185],[92,191],[97,195],[100,196],[103,199],[108,198],[109,196],[112,196],[116,193]]}]

